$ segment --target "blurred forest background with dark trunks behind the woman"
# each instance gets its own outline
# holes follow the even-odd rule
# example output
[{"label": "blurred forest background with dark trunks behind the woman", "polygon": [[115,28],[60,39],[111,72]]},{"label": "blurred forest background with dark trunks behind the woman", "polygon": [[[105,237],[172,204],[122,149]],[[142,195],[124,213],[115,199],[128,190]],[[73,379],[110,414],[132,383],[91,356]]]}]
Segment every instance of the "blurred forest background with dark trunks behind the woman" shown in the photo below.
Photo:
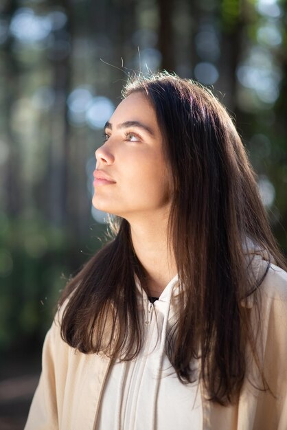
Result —
[{"label": "blurred forest background with dark trunks behind the woman", "polygon": [[214,88],[287,253],[286,12],[287,0],[1,0],[2,430],[23,428],[56,299],[101,245],[94,152],[130,69]]}]

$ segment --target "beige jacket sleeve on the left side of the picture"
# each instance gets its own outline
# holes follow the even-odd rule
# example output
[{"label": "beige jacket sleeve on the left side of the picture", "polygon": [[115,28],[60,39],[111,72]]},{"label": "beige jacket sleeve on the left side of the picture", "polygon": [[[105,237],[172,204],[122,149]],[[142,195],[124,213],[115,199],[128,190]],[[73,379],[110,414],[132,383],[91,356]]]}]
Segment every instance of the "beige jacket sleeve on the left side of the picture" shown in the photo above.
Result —
[{"label": "beige jacket sleeve on the left side of the picture", "polygon": [[32,400],[25,430],[58,430],[67,375],[67,344],[54,320],[43,346],[42,372]]}]

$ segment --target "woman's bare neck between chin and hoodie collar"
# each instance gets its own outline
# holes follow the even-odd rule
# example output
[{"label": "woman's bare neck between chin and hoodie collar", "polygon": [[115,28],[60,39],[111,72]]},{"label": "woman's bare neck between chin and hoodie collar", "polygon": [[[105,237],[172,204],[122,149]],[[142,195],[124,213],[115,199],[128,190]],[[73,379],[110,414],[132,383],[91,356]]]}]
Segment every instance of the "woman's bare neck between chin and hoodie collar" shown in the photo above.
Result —
[{"label": "woman's bare neck between chin and hoodie collar", "polygon": [[161,218],[130,225],[133,247],[146,271],[143,288],[152,297],[159,297],[177,273],[172,250],[168,246],[168,223]]}]

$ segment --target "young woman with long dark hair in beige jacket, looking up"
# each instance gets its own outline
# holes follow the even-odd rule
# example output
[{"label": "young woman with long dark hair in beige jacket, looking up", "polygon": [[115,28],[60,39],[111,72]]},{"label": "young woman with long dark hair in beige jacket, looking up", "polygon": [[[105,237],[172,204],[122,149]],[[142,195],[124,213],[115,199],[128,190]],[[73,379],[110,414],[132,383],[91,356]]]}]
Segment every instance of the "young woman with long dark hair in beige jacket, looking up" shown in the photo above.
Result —
[{"label": "young woman with long dark hair in beige jacket, looking up", "polygon": [[286,430],[286,266],[227,111],[135,76],[104,133],[115,238],[62,294],[25,429]]}]

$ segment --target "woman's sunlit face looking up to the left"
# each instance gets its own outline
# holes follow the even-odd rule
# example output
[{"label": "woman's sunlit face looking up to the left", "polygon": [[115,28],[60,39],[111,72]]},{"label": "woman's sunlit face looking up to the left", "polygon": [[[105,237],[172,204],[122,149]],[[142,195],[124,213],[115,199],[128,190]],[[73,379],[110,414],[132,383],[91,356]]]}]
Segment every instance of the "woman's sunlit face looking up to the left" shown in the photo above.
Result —
[{"label": "woman's sunlit face looking up to the left", "polygon": [[142,93],[124,99],[95,151],[93,205],[130,220],[169,207],[170,172],[157,117]]}]

